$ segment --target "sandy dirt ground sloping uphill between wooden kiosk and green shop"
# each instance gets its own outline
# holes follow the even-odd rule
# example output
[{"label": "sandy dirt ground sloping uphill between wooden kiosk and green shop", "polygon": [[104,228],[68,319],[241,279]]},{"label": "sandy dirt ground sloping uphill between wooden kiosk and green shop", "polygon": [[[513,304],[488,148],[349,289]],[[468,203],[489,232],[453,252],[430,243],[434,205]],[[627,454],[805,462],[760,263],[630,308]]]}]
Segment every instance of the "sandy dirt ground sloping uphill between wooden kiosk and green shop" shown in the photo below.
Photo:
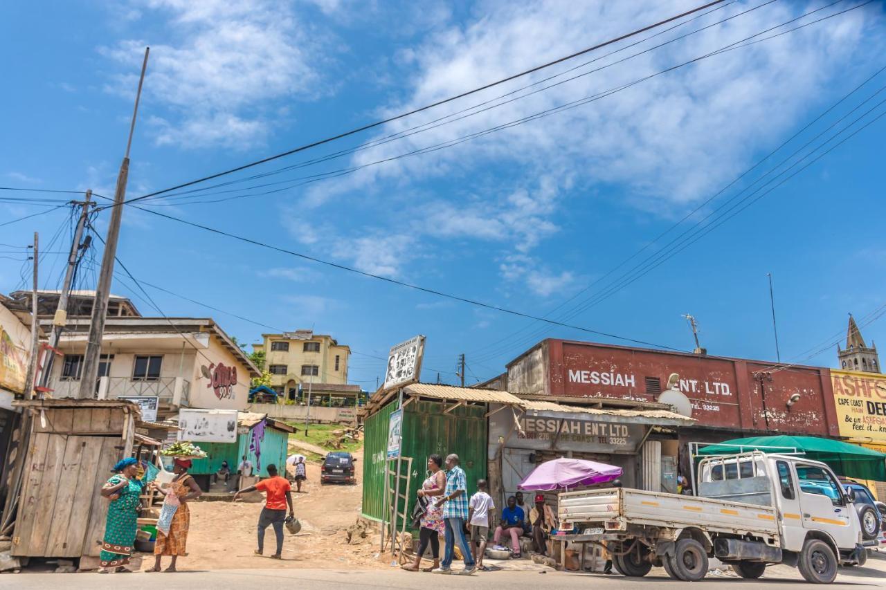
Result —
[{"label": "sandy dirt ground sloping uphill between wooden kiosk and green shop", "polygon": [[[179,558],[178,569],[384,568],[385,564],[377,560],[377,534],[360,545],[347,544],[346,528],[360,516],[361,504],[362,451],[354,453],[354,457],[357,459],[357,485],[320,485],[320,465],[308,463],[307,482],[302,485],[302,493],[295,493],[294,486],[292,490],[301,532],[293,536],[284,531],[281,561],[253,555],[257,542],[256,525],[263,502],[191,502],[189,555]],[[268,527],[265,555],[274,552],[275,542],[274,530]],[[152,562],[151,555],[144,555],[141,569],[147,569]],[[164,562],[163,567],[166,564]]]}]

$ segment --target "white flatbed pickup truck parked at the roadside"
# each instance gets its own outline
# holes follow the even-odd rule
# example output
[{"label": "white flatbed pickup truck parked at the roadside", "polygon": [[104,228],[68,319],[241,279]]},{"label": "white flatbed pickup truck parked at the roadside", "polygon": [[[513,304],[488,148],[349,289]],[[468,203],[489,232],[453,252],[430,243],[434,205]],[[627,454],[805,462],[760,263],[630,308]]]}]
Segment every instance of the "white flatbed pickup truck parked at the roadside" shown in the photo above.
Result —
[{"label": "white flatbed pickup truck parked at the roadside", "polygon": [[759,578],[770,563],[797,567],[828,584],[841,563],[867,558],[851,491],[830,468],[799,456],[760,452],[718,456],[698,465],[698,496],[608,488],[559,496],[560,529],[576,540],[605,542],[616,569],[645,576],[653,565],[695,581],[708,558]]}]

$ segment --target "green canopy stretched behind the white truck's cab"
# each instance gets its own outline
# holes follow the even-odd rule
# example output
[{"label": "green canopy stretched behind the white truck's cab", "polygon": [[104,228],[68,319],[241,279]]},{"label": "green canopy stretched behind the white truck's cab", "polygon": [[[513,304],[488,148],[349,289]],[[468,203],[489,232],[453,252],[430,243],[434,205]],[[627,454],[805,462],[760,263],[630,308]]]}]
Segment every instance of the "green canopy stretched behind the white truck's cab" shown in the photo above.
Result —
[{"label": "green canopy stretched behind the white truck's cab", "polygon": [[886,481],[886,454],[840,440],[792,436],[750,437],[703,446],[698,455],[747,453],[754,450],[764,453],[803,454],[813,461],[827,463],[839,476]]}]

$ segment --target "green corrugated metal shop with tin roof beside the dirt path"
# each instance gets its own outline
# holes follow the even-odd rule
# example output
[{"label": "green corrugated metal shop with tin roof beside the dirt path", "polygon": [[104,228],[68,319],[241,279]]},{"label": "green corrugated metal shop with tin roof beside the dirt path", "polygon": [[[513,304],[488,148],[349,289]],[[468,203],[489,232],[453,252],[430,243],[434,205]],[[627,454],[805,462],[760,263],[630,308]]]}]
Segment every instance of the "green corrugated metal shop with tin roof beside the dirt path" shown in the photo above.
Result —
[{"label": "green corrugated metal shop with tin roof beside the dirt path", "polygon": [[[455,453],[462,462],[468,479],[468,493],[477,491],[477,480],[486,474],[486,392],[447,385],[414,384],[403,388],[404,407],[401,425],[400,456],[412,458],[409,489],[404,495],[412,508],[416,492],[428,475],[431,454],[446,458]],[[387,456],[388,423],[397,409],[398,400],[370,406],[364,421],[365,451],[363,454],[362,515],[380,521],[385,513],[385,458]],[[465,399],[467,398],[467,399]],[[405,467],[403,468],[405,472]],[[400,506],[402,510],[402,505]]]}]

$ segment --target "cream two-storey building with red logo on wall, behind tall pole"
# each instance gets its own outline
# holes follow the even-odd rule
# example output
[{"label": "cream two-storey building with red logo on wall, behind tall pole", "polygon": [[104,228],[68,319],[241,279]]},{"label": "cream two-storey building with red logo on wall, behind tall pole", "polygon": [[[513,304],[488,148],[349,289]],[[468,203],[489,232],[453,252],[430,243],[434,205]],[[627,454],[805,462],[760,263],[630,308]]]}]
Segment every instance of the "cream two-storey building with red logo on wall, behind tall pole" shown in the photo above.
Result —
[{"label": "cream two-storey building with red logo on wall, behind tall pole", "polygon": [[[30,306],[27,291],[12,293]],[[93,291],[74,291],[51,369],[54,398],[77,397],[89,335]],[[38,319],[51,330],[58,291],[38,292]],[[259,370],[212,318],[144,317],[129,299],[111,296],[94,395],[159,397],[160,418],[178,408],[244,410]]]}]

